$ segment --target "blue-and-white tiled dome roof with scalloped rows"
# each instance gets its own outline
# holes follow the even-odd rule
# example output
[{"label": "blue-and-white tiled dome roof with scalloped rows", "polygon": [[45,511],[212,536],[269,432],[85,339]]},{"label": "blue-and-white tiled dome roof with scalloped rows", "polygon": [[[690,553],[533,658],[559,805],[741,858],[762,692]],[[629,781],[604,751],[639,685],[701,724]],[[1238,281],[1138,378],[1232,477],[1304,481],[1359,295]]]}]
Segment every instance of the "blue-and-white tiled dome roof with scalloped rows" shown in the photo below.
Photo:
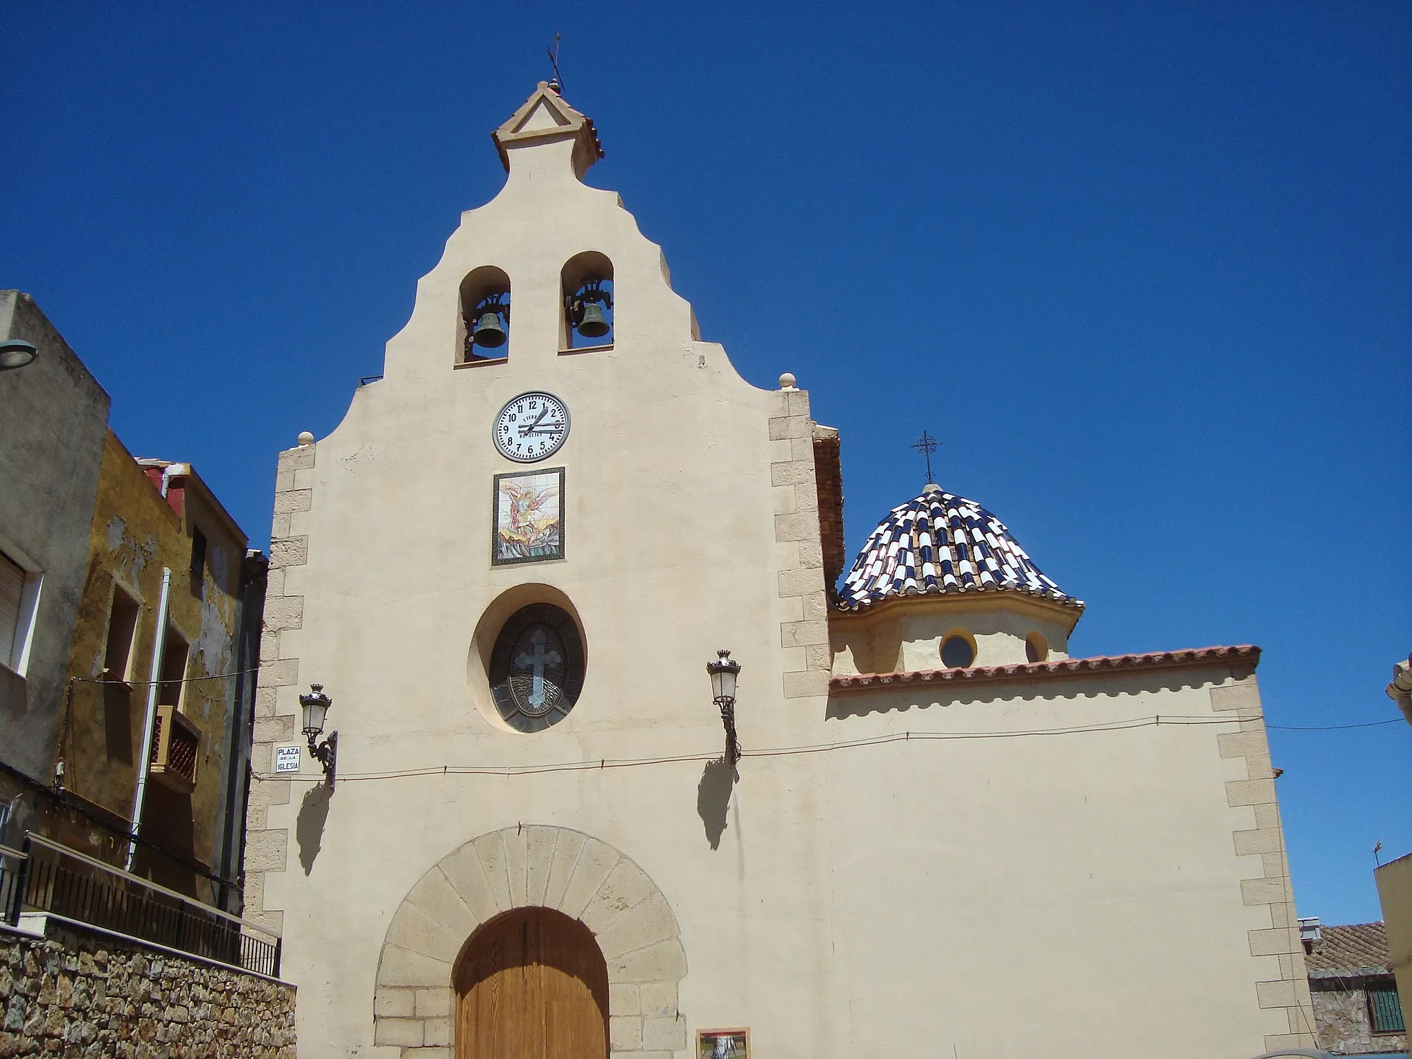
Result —
[{"label": "blue-and-white tiled dome roof with scalloped rows", "polygon": [[973,500],[928,486],[873,531],[839,589],[857,610],[892,596],[1008,589],[1083,607],[1035,566],[1005,524]]}]

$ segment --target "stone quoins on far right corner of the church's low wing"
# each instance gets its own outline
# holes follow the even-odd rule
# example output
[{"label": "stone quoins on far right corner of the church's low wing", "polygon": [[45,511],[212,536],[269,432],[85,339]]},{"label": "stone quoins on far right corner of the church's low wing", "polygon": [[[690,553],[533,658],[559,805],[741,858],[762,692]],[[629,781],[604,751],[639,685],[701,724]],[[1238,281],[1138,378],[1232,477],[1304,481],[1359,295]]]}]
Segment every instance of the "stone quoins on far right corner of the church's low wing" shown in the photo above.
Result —
[{"label": "stone quoins on far right corner of the church's low wing", "polygon": [[1255,983],[1260,1005],[1282,1008],[1288,1025],[1284,1034],[1267,1034],[1265,1048],[1313,1048],[1315,1017],[1305,949],[1299,940],[1295,890],[1289,881],[1275,774],[1254,674],[1211,688],[1211,709],[1233,712],[1240,719],[1240,731],[1217,736],[1221,757],[1244,758],[1245,762],[1245,777],[1227,781],[1226,802],[1231,808],[1248,805],[1255,813],[1255,827],[1237,830],[1233,839],[1238,856],[1258,856],[1264,868],[1260,877],[1241,881],[1247,905],[1269,908],[1269,926],[1248,932],[1250,955],[1272,956],[1279,966],[1278,979]]}]

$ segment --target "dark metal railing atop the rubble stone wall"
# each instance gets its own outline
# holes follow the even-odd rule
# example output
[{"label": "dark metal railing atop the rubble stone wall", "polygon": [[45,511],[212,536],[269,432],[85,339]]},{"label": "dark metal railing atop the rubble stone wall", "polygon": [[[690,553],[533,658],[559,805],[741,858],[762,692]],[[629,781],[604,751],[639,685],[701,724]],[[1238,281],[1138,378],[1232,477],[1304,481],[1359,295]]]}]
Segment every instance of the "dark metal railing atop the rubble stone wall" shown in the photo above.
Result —
[{"label": "dark metal railing atop the rubble stone wall", "polygon": [[40,834],[25,836],[23,850],[0,846],[0,909],[11,925],[42,912],[280,977],[274,931]]}]

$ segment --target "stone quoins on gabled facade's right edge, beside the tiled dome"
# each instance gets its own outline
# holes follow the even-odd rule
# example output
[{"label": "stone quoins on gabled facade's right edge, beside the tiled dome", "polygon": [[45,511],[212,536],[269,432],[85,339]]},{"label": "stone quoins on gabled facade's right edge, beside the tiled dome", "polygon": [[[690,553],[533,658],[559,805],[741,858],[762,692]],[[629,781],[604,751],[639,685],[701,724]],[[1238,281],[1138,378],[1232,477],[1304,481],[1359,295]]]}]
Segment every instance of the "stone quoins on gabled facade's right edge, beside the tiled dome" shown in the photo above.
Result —
[{"label": "stone quoins on gabled facade's right edge, beside the tiled dome", "polygon": [[779,599],[792,614],[779,623],[786,652],[786,699],[829,693],[829,597],[823,582],[823,544],[819,534],[819,489],[813,466],[815,424],[809,394],[779,390],[771,395],[770,483],[775,497],[775,541],[784,552]]}]

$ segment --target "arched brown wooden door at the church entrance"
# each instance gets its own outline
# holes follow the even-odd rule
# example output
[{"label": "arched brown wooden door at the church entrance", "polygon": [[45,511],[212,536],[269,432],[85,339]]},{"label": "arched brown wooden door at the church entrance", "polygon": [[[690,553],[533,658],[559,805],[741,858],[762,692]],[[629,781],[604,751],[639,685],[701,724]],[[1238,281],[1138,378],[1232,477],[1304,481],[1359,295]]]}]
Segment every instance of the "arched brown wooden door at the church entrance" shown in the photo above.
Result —
[{"label": "arched brown wooden door at the church entrance", "polygon": [[487,923],[456,971],[457,1059],[606,1059],[609,969],[593,932],[520,908]]}]

